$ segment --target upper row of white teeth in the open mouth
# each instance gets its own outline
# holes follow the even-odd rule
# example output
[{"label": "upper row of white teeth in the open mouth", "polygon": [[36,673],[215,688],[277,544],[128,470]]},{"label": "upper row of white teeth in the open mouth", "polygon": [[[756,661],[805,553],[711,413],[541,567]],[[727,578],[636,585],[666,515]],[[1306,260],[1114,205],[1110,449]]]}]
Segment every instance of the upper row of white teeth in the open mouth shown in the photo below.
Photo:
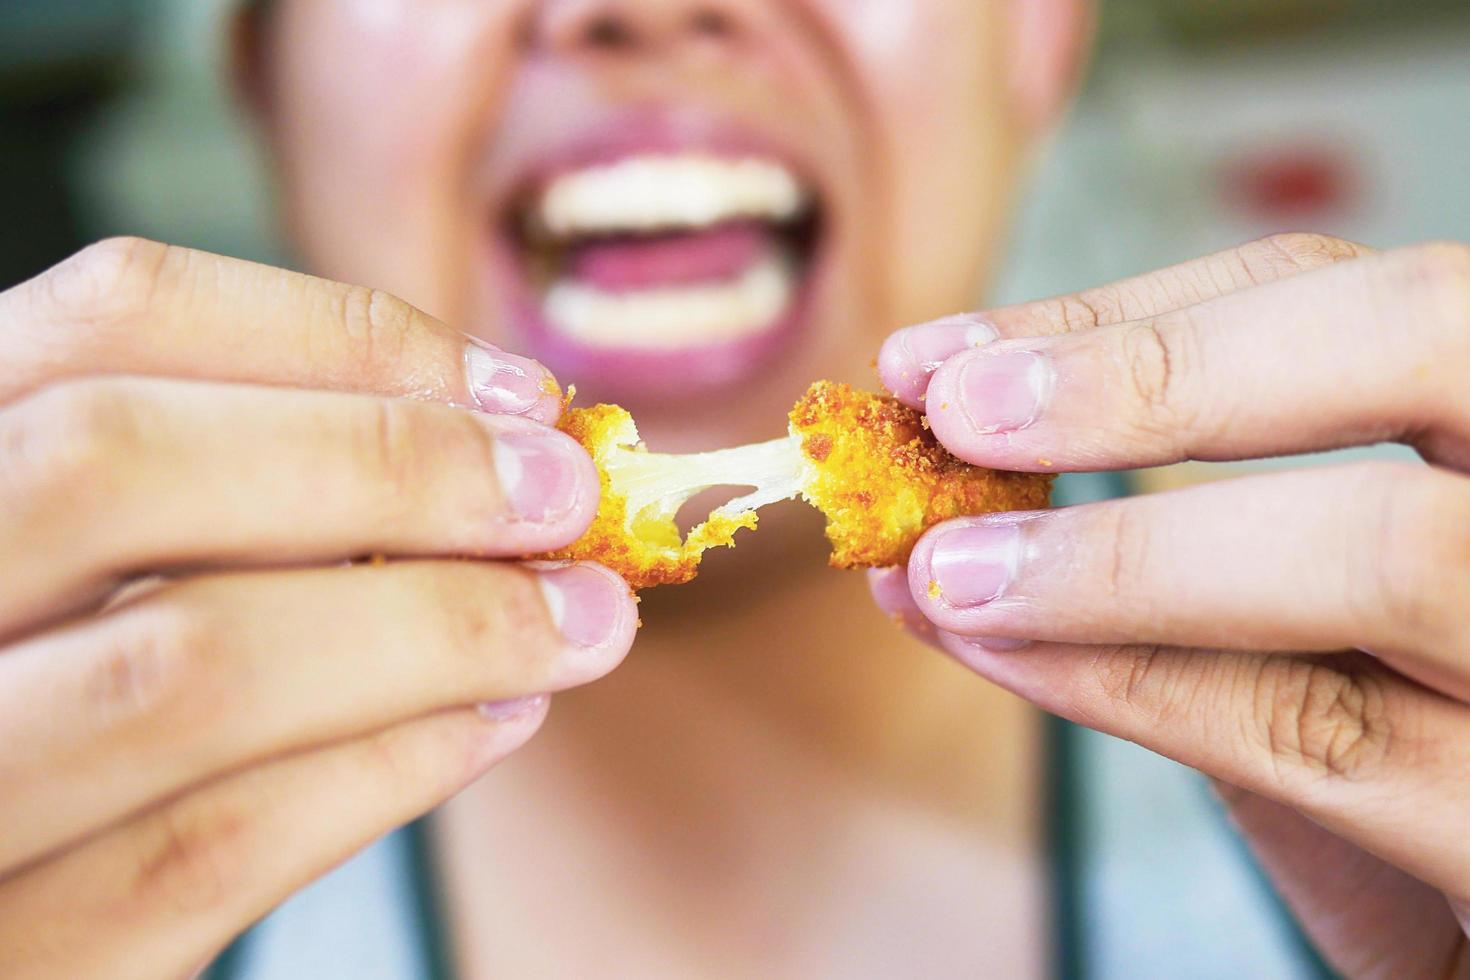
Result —
[{"label": "upper row of white teeth in the open mouth", "polygon": [[806,204],[795,175],[770,160],[698,154],[628,157],[564,173],[538,207],[554,235],[703,228],[736,217],[788,220]]}]

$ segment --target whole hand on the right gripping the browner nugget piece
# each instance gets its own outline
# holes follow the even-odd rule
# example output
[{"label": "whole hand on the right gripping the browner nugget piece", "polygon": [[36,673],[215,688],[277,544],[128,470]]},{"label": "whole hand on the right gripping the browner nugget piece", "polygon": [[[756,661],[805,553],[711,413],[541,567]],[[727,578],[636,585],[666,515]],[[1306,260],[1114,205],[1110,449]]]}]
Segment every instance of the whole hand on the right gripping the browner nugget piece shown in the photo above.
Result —
[{"label": "whole hand on the right gripping the browner nugget piece", "polygon": [[908,328],[879,366],[1000,469],[1419,450],[961,519],[872,585],[1003,688],[1216,777],[1345,974],[1470,977],[1470,247],[1274,237]]}]

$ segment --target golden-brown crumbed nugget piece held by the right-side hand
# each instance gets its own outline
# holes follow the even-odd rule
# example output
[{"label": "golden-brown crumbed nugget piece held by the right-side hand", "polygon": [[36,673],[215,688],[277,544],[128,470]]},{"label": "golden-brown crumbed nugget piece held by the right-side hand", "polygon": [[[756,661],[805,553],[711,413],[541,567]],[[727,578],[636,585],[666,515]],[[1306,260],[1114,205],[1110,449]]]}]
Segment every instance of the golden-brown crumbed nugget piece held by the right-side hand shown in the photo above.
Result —
[{"label": "golden-brown crumbed nugget piece held by the right-side hand", "polygon": [[1051,475],[970,466],[939,445],[919,411],[848,385],[811,385],[791,428],[816,466],[806,495],[828,519],[838,569],[900,566],[939,522],[1038,510],[1050,498]]}]

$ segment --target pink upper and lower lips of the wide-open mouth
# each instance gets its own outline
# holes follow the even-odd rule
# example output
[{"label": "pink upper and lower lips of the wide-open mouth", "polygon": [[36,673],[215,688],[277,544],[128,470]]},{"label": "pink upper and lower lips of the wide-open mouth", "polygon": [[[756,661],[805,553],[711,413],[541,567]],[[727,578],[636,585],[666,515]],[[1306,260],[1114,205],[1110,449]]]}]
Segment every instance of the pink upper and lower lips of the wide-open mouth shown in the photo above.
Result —
[{"label": "pink upper and lower lips of the wide-open mouth", "polygon": [[[682,109],[653,109],[601,115],[567,143],[544,147],[528,160],[494,200],[517,200],[564,170],[612,163],[647,153],[709,153],[763,156],[781,160],[810,187],[810,169],[792,154],[759,135]],[[803,284],[791,309],[767,329],[739,341],[684,348],[589,347],[556,332],[542,317],[539,298],[529,287],[520,250],[510,231],[498,223],[490,235],[490,264],[506,300],[510,328],[526,353],[544,361],[563,382],[581,382],[597,397],[637,403],[678,401],[726,388],[756,375],[760,367],[794,345],[810,322],[813,297],[825,278],[826,242],[808,256]]]}]

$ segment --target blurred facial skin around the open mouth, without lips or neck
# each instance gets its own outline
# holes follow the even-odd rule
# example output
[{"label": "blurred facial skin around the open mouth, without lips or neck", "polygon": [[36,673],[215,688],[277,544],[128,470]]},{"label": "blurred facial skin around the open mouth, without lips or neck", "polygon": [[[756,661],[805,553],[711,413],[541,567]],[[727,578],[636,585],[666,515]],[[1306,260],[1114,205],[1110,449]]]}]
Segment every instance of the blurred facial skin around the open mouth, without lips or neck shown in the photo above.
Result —
[{"label": "blurred facial skin around the open mouth, without lips or neck", "polygon": [[[994,3],[900,12],[853,0],[766,0],[745,12],[716,3],[750,43],[709,50],[678,26],[698,6],[278,3],[260,41],[257,57],[269,65],[254,98],[304,263],[510,345],[504,297],[482,273],[484,228],[517,165],[548,138],[548,106],[595,119],[676,87],[814,162],[836,254],[807,339],[741,386],[736,419],[725,398],[662,408],[625,400],[639,430],[672,451],[770,438],[813,378],[870,385],[873,350],[892,325],[966,309],[991,267],[1013,187],[1004,175],[1032,128],[1019,125],[1023,110],[1008,88],[1045,84],[995,71],[1010,57],[1003,32],[1020,26]],[[588,40],[604,9],[623,10],[642,38],[634,50],[607,53]],[[926,50],[938,34],[939,60]],[[1069,76],[1061,72],[1053,69]],[[1032,110],[1035,125],[1060,101],[1058,91]],[[913,106],[926,106],[923,118]],[[923,154],[913,151],[919,144]],[[964,220],[933,219],[956,200],[964,200]],[[883,260],[894,254],[923,260]],[[598,398],[597,378],[567,381],[582,398]]]}]

